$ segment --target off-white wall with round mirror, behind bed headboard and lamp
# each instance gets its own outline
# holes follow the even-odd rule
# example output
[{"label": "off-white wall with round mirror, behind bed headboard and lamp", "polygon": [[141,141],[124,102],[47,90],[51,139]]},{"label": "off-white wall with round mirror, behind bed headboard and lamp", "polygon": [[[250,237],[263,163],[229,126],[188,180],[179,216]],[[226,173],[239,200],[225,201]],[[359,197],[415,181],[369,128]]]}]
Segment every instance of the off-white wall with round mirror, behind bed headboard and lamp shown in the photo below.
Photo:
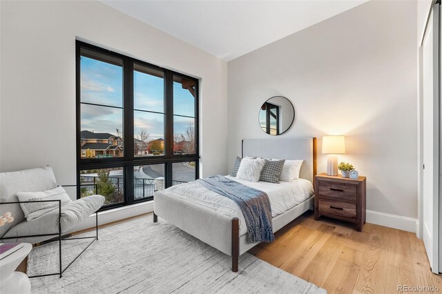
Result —
[{"label": "off-white wall with round mirror, behind bed headboard and lamp", "polygon": [[[256,116],[266,99],[282,95],[296,109],[282,137],[346,135],[339,160],[367,176],[371,215],[413,224],[416,30],[415,1],[369,1],[230,61],[229,169],[241,139],[271,138]],[[320,146],[318,173],[327,166]]]}]

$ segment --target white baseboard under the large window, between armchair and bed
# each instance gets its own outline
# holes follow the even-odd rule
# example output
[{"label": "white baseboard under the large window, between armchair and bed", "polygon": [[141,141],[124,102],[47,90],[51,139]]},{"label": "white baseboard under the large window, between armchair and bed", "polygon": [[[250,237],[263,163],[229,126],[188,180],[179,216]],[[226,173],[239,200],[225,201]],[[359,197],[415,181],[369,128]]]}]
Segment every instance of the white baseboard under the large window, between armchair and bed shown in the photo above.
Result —
[{"label": "white baseboard under the large window, between armchair and bed", "polygon": [[[137,215],[142,215],[144,213],[150,213],[153,211],[153,201],[142,202],[138,204],[133,204],[130,206],[123,206],[119,208],[114,208],[110,210],[102,211],[98,213],[98,225],[108,224],[110,222],[116,222],[121,219],[126,219],[128,217],[135,217]],[[68,233],[77,232],[85,230],[86,228],[93,228],[95,226],[95,214],[90,215],[88,219],[71,228]]]}]

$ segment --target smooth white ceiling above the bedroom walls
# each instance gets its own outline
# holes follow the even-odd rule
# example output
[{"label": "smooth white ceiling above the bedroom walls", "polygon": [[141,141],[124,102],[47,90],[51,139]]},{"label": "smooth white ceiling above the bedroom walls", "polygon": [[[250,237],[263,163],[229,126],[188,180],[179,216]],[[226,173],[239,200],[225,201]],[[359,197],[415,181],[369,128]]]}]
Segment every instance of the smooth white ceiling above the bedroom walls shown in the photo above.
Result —
[{"label": "smooth white ceiling above the bedroom walls", "polygon": [[224,61],[282,39],[367,0],[102,0]]}]

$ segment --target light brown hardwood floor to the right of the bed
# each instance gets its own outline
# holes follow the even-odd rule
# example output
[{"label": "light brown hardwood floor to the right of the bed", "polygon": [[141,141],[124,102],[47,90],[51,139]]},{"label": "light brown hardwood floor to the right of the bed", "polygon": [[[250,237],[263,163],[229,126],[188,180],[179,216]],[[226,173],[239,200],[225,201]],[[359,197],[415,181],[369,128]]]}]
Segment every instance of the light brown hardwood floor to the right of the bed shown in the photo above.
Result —
[{"label": "light brown hardwood floor to the right of the bed", "polygon": [[313,217],[312,212],[301,215],[275,234],[275,242],[249,253],[328,293],[405,292],[398,285],[442,291],[442,277],[431,272],[414,233],[369,223],[357,232],[352,224]]}]

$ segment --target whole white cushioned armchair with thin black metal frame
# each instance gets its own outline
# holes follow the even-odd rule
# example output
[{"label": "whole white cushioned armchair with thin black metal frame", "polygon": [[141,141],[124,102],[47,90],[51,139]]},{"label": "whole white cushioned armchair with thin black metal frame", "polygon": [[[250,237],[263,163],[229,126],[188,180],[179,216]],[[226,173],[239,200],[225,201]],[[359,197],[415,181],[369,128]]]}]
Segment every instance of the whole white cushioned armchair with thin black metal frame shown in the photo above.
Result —
[{"label": "whole white cushioned armchair with thin black metal frame", "polygon": [[60,200],[37,200],[35,202],[58,202],[58,205],[56,209],[27,221],[23,210],[21,210],[21,202],[17,198],[17,193],[39,192],[53,188],[57,188],[57,181],[50,166],[0,173],[0,215],[9,211],[14,217],[14,222],[0,226],[0,242],[28,242],[33,244],[56,238],[55,241],[59,242],[59,273],[53,275],[61,277],[66,268],[72,264],[71,262],[64,269],[61,266],[61,236],[95,213],[96,236],[90,238],[93,239],[92,242],[98,239],[97,210],[104,204],[104,197],[92,195],[77,199],[64,206],[61,206]]}]

